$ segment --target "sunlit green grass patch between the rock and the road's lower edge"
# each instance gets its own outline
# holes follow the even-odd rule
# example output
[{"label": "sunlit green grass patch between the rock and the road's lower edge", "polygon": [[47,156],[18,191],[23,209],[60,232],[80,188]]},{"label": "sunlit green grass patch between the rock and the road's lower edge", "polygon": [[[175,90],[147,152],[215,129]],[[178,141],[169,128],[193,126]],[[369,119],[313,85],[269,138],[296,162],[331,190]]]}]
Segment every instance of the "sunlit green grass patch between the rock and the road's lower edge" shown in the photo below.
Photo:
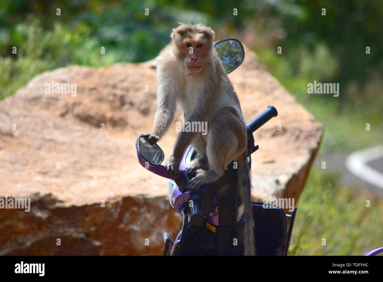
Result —
[{"label": "sunlit green grass patch between the rock and the road's lower edge", "polygon": [[321,168],[311,170],[297,205],[289,255],[358,256],[383,246],[383,200],[342,185],[339,177]]}]

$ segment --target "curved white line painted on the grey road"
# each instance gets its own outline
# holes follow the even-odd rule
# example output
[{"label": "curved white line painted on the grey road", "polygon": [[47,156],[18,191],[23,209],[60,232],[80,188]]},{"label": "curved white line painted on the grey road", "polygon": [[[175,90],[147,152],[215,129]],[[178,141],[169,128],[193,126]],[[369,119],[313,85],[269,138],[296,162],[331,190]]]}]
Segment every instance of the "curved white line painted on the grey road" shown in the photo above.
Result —
[{"label": "curved white line painted on the grey road", "polygon": [[383,189],[383,174],[367,164],[381,157],[383,157],[383,146],[356,151],[346,158],[346,167],[355,176]]}]

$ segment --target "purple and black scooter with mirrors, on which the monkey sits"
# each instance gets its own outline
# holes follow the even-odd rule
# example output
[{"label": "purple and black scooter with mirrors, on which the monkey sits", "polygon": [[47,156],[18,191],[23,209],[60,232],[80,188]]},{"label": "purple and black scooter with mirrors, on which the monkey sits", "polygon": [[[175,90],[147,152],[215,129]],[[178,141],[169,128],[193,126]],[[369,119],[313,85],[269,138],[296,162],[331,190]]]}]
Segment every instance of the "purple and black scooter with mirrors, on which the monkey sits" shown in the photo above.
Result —
[{"label": "purple and black scooter with mirrors, on which the monkey sits", "polygon": [[[227,73],[243,62],[244,48],[238,40],[219,41],[214,47]],[[277,114],[275,107],[268,106],[246,125],[250,166],[250,155],[259,148],[258,145],[254,145],[253,132]],[[228,170],[218,181],[190,191],[186,187],[193,176],[185,167],[191,160],[200,157],[193,147],[185,151],[180,164],[180,173],[176,179],[172,179],[167,168],[161,165],[165,156],[159,145],[139,135],[136,149],[142,167],[168,178],[169,203],[183,216],[182,230],[175,241],[167,233],[163,234],[164,256],[244,254],[244,218],[239,194],[241,187],[237,181],[237,170],[234,169],[233,162],[229,163]],[[189,203],[193,204],[190,206]],[[252,202],[252,206],[257,255],[287,255],[296,208],[293,208],[293,212],[289,215],[272,205],[264,208],[264,203]],[[290,223],[287,228],[288,221]]]}]

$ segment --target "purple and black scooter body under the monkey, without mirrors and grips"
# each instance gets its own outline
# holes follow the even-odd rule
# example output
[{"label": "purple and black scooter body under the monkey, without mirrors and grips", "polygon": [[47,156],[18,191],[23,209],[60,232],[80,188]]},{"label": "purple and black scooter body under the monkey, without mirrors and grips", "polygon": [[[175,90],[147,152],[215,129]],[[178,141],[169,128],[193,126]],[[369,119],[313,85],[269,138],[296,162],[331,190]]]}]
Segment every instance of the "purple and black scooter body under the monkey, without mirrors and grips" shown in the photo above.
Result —
[{"label": "purple and black scooter body under the monkey, without mirrors and grips", "polygon": [[[198,153],[190,147],[185,152],[180,169],[184,169],[194,158],[198,158]],[[233,163],[230,163],[225,174],[216,183],[209,185],[208,189],[214,191],[217,200],[217,205],[211,208],[215,207],[214,211],[206,215],[200,225],[188,221],[186,229],[181,230],[175,239],[177,242],[182,233],[186,232],[185,243],[182,246],[173,245],[170,255],[243,255],[244,219],[239,194],[241,186],[238,182],[237,170]],[[190,195],[190,191],[182,193],[174,180],[168,180],[169,202],[178,213],[181,213],[182,203],[188,200],[187,194]],[[261,256],[287,254],[290,237],[283,210],[270,205],[265,209],[264,203],[253,202],[252,205],[255,218],[254,231],[257,231],[255,232],[257,254]],[[187,215],[191,216],[190,213]],[[293,221],[291,222],[293,224]],[[170,248],[170,244],[168,246],[165,244],[164,254],[168,252],[166,248]]]}]

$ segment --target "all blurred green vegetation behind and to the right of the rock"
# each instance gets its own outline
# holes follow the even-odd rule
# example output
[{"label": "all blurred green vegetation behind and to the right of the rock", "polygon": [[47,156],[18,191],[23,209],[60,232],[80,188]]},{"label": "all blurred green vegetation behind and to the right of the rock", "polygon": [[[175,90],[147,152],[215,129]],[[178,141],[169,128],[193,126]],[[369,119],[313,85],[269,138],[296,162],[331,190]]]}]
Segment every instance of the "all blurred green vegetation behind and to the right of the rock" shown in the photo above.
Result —
[{"label": "all blurred green vegetation behind and to the right of the rock", "polygon": [[[203,21],[217,39],[234,37],[257,52],[270,73],[324,125],[321,153],[350,152],[383,139],[382,14],[383,2],[375,0],[3,0],[0,100],[51,69],[152,59],[177,21]],[[308,94],[307,84],[314,81],[339,83],[339,97]],[[357,255],[382,243],[382,201],[337,178],[313,168],[298,204],[290,254]],[[365,200],[371,200],[371,208]]]}]

